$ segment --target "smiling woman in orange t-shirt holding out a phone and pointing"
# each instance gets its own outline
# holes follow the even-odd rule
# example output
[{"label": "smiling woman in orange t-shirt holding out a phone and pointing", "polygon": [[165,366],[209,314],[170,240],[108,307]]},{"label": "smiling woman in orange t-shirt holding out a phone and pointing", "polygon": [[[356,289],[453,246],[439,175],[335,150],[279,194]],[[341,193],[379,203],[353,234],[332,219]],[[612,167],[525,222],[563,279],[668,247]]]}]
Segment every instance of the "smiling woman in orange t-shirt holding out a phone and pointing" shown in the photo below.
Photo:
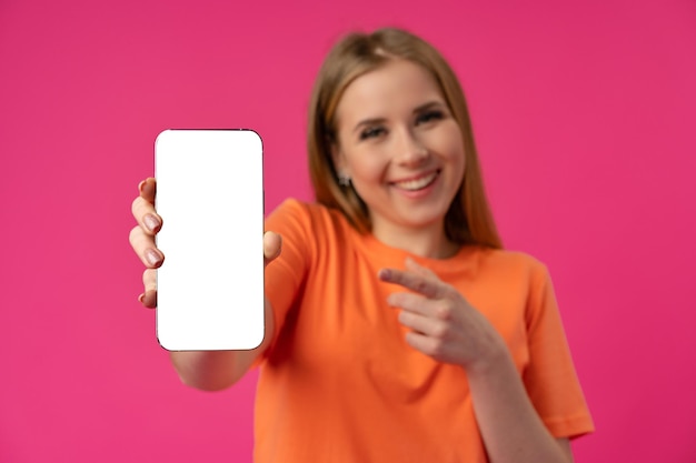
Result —
[{"label": "smiling woman in orange t-shirt holding out a phone and pointing", "polygon": [[[260,366],[258,462],[571,462],[593,423],[551,283],[501,250],[440,54],[395,29],[339,42],[309,165],[317,203],[266,221],[264,343],[172,352],[182,381],[219,390]],[[155,181],[139,190],[131,243],[155,306],[162,220]]]}]

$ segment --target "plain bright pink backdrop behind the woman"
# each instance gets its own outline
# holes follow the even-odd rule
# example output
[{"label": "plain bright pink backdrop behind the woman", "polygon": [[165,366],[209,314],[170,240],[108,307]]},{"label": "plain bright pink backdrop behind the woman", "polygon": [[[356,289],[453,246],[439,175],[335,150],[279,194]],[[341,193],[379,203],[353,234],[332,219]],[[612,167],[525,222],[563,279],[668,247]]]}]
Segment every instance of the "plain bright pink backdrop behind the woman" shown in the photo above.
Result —
[{"label": "plain bright pink backdrop behind the woman", "polygon": [[385,24],[451,61],[506,244],[551,270],[576,461],[696,461],[696,2],[570,4],[1,0],[0,461],[251,460],[255,376],[179,383],[130,202],[167,128],[253,128],[267,208],[309,199],[314,76]]}]

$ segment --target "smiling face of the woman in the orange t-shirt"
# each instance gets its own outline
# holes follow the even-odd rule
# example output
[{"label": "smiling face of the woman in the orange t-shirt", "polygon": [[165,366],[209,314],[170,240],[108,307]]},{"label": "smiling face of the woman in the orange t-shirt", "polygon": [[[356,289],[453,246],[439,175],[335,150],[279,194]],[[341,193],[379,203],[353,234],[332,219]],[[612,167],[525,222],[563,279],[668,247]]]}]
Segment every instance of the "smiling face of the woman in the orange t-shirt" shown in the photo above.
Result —
[{"label": "smiling face of the woman in the orange t-shirt", "polygon": [[432,229],[464,178],[461,131],[421,67],[392,60],[351,82],[337,108],[334,161],[369,209],[372,233]]}]

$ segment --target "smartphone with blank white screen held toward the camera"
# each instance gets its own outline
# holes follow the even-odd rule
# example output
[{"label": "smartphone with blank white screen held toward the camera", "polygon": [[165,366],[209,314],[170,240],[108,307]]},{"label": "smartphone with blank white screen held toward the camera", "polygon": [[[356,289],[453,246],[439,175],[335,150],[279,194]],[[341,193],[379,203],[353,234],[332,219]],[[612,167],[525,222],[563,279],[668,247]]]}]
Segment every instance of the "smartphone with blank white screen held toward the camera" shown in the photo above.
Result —
[{"label": "smartphone with blank white screen held toward the camera", "polygon": [[157,339],[169,351],[264,340],[264,149],[252,130],[165,130],[155,141]]}]

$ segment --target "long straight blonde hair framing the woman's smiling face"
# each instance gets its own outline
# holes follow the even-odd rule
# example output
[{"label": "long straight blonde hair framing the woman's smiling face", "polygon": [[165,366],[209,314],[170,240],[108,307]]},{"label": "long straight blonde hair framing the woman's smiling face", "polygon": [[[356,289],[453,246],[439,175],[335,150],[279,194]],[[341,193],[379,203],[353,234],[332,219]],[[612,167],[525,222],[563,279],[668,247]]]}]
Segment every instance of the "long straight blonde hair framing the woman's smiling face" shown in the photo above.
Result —
[{"label": "long straight blonde hair framing the woman's smiling face", "polygon": [[447,238],[459,244],[501,248],[474,143],[471,122],[459,80],[443,56],[422,39],[399,29],[351,33],[339,41],[324,61],[309,107],[309,171],[319,203],[340,210],[358,231],[371,228],[365,202],[350,185],[341,185],[331,147],[338,142],[336,109],[346,88],[358,77],[389,60],[402,59],[426,69],[437,82],[464,139],[465,173],[445,217]]}]

